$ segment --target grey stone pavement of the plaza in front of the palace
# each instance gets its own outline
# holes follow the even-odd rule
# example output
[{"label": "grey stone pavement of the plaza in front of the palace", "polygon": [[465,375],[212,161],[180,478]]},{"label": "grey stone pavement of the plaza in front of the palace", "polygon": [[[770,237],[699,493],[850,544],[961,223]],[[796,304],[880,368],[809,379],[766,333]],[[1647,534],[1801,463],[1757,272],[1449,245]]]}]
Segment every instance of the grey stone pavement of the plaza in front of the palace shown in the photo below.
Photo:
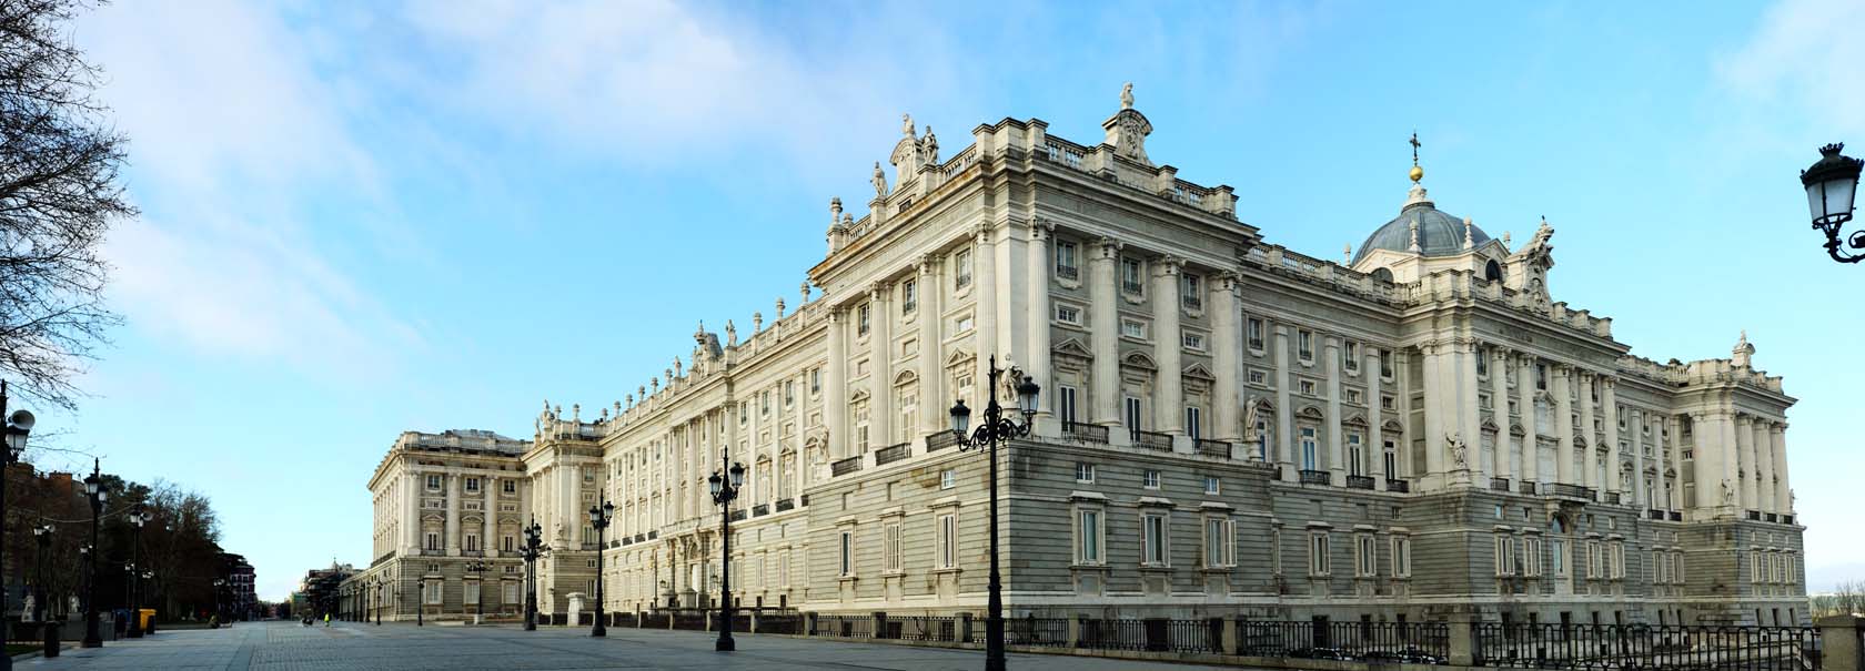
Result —
[{"label": "grey stone pavement of the plaza in front of the palace", "polygon": [[[244,623],[222,630],[162,630],[153,637],[65,649],[56,660],[17,669],[979,669],[983,650],[845,643],[740,634],[737,652],[714,652],[714,634],[612,628],[414,626]],[[1011,669],[1231,669],[1063,654],[1011,654]]]}]

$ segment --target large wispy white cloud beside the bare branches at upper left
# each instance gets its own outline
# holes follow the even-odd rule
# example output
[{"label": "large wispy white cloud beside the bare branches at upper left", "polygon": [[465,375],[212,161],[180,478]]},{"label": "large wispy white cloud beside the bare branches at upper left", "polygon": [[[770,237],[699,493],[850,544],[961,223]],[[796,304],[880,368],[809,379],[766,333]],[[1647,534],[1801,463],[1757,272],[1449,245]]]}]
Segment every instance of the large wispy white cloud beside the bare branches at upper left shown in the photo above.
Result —
[{"label": "large wispy white cloud beside the bare branches at upper left", "polygon": [[295,34],[254,6],[186,2],[104,6],[76,37],[106,67],[145,212],[106,248],[132,328],[341,373],[380,363],[384,334],[407,341],[304,226],[330,194],[388,205]]}]

